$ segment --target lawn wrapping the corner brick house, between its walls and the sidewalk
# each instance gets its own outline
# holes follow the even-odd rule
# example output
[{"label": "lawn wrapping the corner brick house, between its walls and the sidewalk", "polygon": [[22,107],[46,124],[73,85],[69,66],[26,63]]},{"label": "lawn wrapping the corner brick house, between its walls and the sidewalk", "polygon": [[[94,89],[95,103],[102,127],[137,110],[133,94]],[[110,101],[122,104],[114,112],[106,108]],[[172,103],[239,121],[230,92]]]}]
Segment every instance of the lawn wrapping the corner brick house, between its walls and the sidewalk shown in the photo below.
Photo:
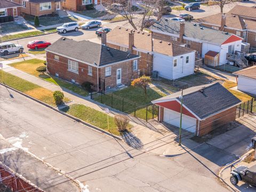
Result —
[{"label": "lawn wrapping the corner brick house, between its walls and the sidewalk", "polygon": [[34,75],[36,77],[42,78],[45,81],[54,83],[55,85],[58,85],[60,87],[64,87],[64,88],[66,88],[70,91],[73,91],[74,93],[77,93],[79,95],[82,95],[82,96],[85,96],[85,97],[88,95],[87,91],[82,89],[82,87],[80,87],[80,86],[77,86],[73,83],[63,81],[62,79],[60,79],[58,77],[38,73],[36,71],[36,68],[39,67],[39,66],[43,66],[43,65],[44,65],[44,61],[39,60],[39,59],[30,59],[30,60],[10,64],[10,66],[12,66],[14,68],[22,70],[22,71],[24,71],[24,72],[26,72],[30,75]]}]

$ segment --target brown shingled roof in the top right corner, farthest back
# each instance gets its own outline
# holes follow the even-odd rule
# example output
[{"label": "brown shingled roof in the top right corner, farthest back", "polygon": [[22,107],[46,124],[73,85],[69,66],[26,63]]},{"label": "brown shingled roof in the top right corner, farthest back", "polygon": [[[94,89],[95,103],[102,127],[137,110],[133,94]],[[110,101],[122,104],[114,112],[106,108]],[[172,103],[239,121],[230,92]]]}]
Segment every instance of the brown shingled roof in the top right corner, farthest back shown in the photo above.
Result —
[{"label": "brown shingled roof in the top right corner, farthest back", "polygon": [[236,5],[228,13],[256,19],[256,6]]}]

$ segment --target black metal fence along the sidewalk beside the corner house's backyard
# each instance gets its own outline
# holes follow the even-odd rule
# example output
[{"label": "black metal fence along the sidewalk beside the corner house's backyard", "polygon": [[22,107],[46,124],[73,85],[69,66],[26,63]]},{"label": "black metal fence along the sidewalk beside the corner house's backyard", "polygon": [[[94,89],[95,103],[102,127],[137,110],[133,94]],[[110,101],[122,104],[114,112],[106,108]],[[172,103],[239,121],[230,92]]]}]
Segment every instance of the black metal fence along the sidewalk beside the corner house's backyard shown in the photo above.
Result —
[{"label": "black metal fence along the sidewalk beside the corner house's backyard", "polygon": [[158,106],[153,103],[140,105],[139,103],[119,97],[115,93],[107,93],[95,87],[91,87],[91,99],[146,121],[158,116]]}]

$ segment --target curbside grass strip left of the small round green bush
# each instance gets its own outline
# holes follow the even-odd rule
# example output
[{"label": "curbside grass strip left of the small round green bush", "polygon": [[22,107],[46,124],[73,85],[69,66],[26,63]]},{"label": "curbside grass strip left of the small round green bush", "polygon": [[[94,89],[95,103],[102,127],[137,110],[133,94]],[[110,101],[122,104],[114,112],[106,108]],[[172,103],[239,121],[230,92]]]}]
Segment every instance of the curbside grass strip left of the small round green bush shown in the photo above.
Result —
[{"label": "curbside grass strip left of the small round green bush", "polygon": [[[20,77],[14,76],[12,74],[6,73],[3,71],[3,81],[2,81],[2,73],[0,73],[0,82],[5,83],[13,87],[16,90],[19,90],[23,93],[30,95],[40,101],[43,101],[53,107],[56,107],[55,101],[53,99],[52,91],[47,90],[39,85],[28,82]],[[67,98],[64,101],[69,101]]]}]

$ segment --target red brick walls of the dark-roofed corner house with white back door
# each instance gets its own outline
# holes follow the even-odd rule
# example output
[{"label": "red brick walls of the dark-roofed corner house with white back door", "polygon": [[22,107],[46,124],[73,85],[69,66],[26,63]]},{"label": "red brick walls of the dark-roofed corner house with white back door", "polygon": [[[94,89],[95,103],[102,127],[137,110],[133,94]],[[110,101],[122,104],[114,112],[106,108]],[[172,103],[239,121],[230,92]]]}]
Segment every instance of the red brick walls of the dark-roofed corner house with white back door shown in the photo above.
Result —
[{"label": "red brick walls of the dark-roofed corner house with white back door", "polygon": [[[47,70],[51,75],[57,73],[59,77],[70,81],[72,79],[75,80],[76,83],[82,84],[84,82],[91,82],[93,85],[97,86],[98,77],[97,77],[97,67],[92,67],[92,76],[88,75],[89,65],[85,63],[78,62],[78,73],[74,73],[68,70],[68,58],[59,56],[59,61],[54,59],[54,54],[50,52],[46,52],[47,58]],[[139,61],[138,61],[139,66]],[[122,84],[130,84],[133,78],[138,77],[138,70],[133,71],[133,60],[126,61],[122,63],[118,63],[116,65],[111,65],[111,76],[105,77],[105,67],[99,68],[99,78],[101,80],[105,79],[105,89],[107,86],[115,87],[116,86],[116,70],[121,68],[122,73]],[[102,83],[102,81],[101,81]]]}]

